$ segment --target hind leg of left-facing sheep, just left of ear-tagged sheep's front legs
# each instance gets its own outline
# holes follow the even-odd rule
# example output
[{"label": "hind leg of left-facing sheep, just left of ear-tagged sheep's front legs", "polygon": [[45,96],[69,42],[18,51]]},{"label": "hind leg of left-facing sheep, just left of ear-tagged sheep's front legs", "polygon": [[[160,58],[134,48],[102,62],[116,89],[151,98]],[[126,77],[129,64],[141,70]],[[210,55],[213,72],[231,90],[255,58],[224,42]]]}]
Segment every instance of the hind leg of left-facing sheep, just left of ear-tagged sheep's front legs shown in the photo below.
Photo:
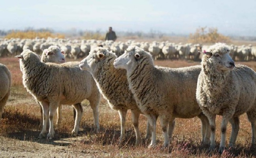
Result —
[{"label": "hind leg of left-facing sheep, just left of ear-tagged sheep's front legs", "polygon": [[211,131],[210,131],[209,121],[203,113],[200,113],[200,115],[198,115],[198,118],[201,120],[202,144],[209,145],[211,143],[210,142]]}]

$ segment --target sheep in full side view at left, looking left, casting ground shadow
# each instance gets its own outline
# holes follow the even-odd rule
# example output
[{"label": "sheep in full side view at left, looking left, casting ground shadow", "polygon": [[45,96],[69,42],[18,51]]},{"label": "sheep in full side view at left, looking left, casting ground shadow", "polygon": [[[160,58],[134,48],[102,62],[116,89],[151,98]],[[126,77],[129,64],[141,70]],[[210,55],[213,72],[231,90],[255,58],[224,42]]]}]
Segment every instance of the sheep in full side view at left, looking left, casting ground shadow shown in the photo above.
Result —
[{"label": "sheep in full side view at left, looking left, casting ground shadow", "polygon": [[[98,131],[98,104],[100,92],[88,71],[81,71],[79,62],[66,62],[63,64],[43,63],[38,55],[25,50],[20,58],[20,67],[23,73],[23,85],[32,96],[40,102],[43,108],[43,129],[39,138],[47,133],[47,120],[50,121],[47,138],[53,139],[53,117],[59,104],[73,105],[76,110],[75,126],[72,134],[79,131],[79,122],[83,109],[79,104],[87,99],[93,109],[94,127]],[[48,112],[49,110],[49,112]]]}]

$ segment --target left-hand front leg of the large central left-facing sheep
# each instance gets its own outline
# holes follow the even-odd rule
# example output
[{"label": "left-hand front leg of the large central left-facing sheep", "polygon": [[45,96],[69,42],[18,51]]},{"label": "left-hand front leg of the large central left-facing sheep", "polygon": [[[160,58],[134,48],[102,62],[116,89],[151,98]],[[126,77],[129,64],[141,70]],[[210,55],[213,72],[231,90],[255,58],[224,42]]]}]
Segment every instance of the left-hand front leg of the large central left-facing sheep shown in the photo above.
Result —
[{"label": "left-hand front leg of the large central left-facing sheep", "polygon": [[151,128],[151,143],[149,145],[150,147],[153,147],[154,145],[156,145],[156,115],[150,115],[150,114],[145,114],[149,124],[150,124],[150,128]]}]

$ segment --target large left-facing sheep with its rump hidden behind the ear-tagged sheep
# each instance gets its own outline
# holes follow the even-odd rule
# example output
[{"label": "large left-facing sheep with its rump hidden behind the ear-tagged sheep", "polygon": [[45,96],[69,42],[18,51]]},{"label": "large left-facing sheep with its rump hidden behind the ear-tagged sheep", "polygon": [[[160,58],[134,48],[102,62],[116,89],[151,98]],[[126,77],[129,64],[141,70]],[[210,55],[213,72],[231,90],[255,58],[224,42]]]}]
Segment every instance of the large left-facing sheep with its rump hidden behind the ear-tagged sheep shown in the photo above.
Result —
[{"label": "large left-facing sheep with its rump hidden behind the ear-tagged sheep", "polygon": [[[209,122],[196,102],[196,83],[200,66],[164,68],[154,66],[152,56],[139,47],[128,47],[126,53],[114,61],[115,68],[125,69],[129,88],[139,109],[147,116],[152,140],[156,144],[156,117],[159,115],[164,147],[169,145],[167,127],[175,118],[198,116],[202,122],[203,143],[209,143]],[[174,126],[174,124],[172,124]],[[172,131],[169,129],[169,137]]]}]

